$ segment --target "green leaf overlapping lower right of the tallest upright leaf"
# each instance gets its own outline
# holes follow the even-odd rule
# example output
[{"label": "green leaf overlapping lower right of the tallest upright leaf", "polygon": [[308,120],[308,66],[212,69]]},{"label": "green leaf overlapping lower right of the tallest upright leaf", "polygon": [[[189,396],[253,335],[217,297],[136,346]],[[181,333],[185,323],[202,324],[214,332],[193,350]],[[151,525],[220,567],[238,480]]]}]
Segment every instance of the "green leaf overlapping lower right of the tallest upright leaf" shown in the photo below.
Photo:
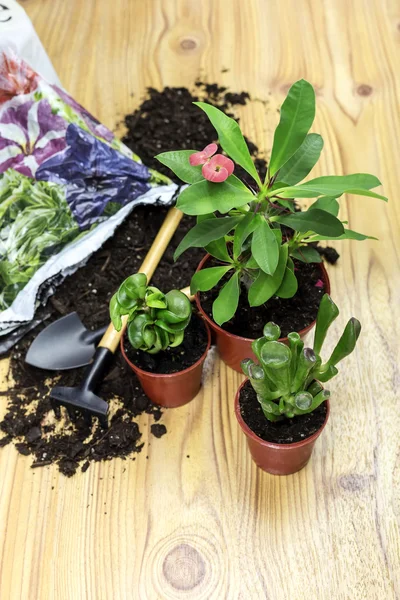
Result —
[{"label": "green leaf overlapping lower right of the tallest upright leaf", "polygon": [[318,133],[309,133],[292,158],[279,169],[279,179],[289,185],[302,181],[318,162],[323,147],[322,137]]}]

